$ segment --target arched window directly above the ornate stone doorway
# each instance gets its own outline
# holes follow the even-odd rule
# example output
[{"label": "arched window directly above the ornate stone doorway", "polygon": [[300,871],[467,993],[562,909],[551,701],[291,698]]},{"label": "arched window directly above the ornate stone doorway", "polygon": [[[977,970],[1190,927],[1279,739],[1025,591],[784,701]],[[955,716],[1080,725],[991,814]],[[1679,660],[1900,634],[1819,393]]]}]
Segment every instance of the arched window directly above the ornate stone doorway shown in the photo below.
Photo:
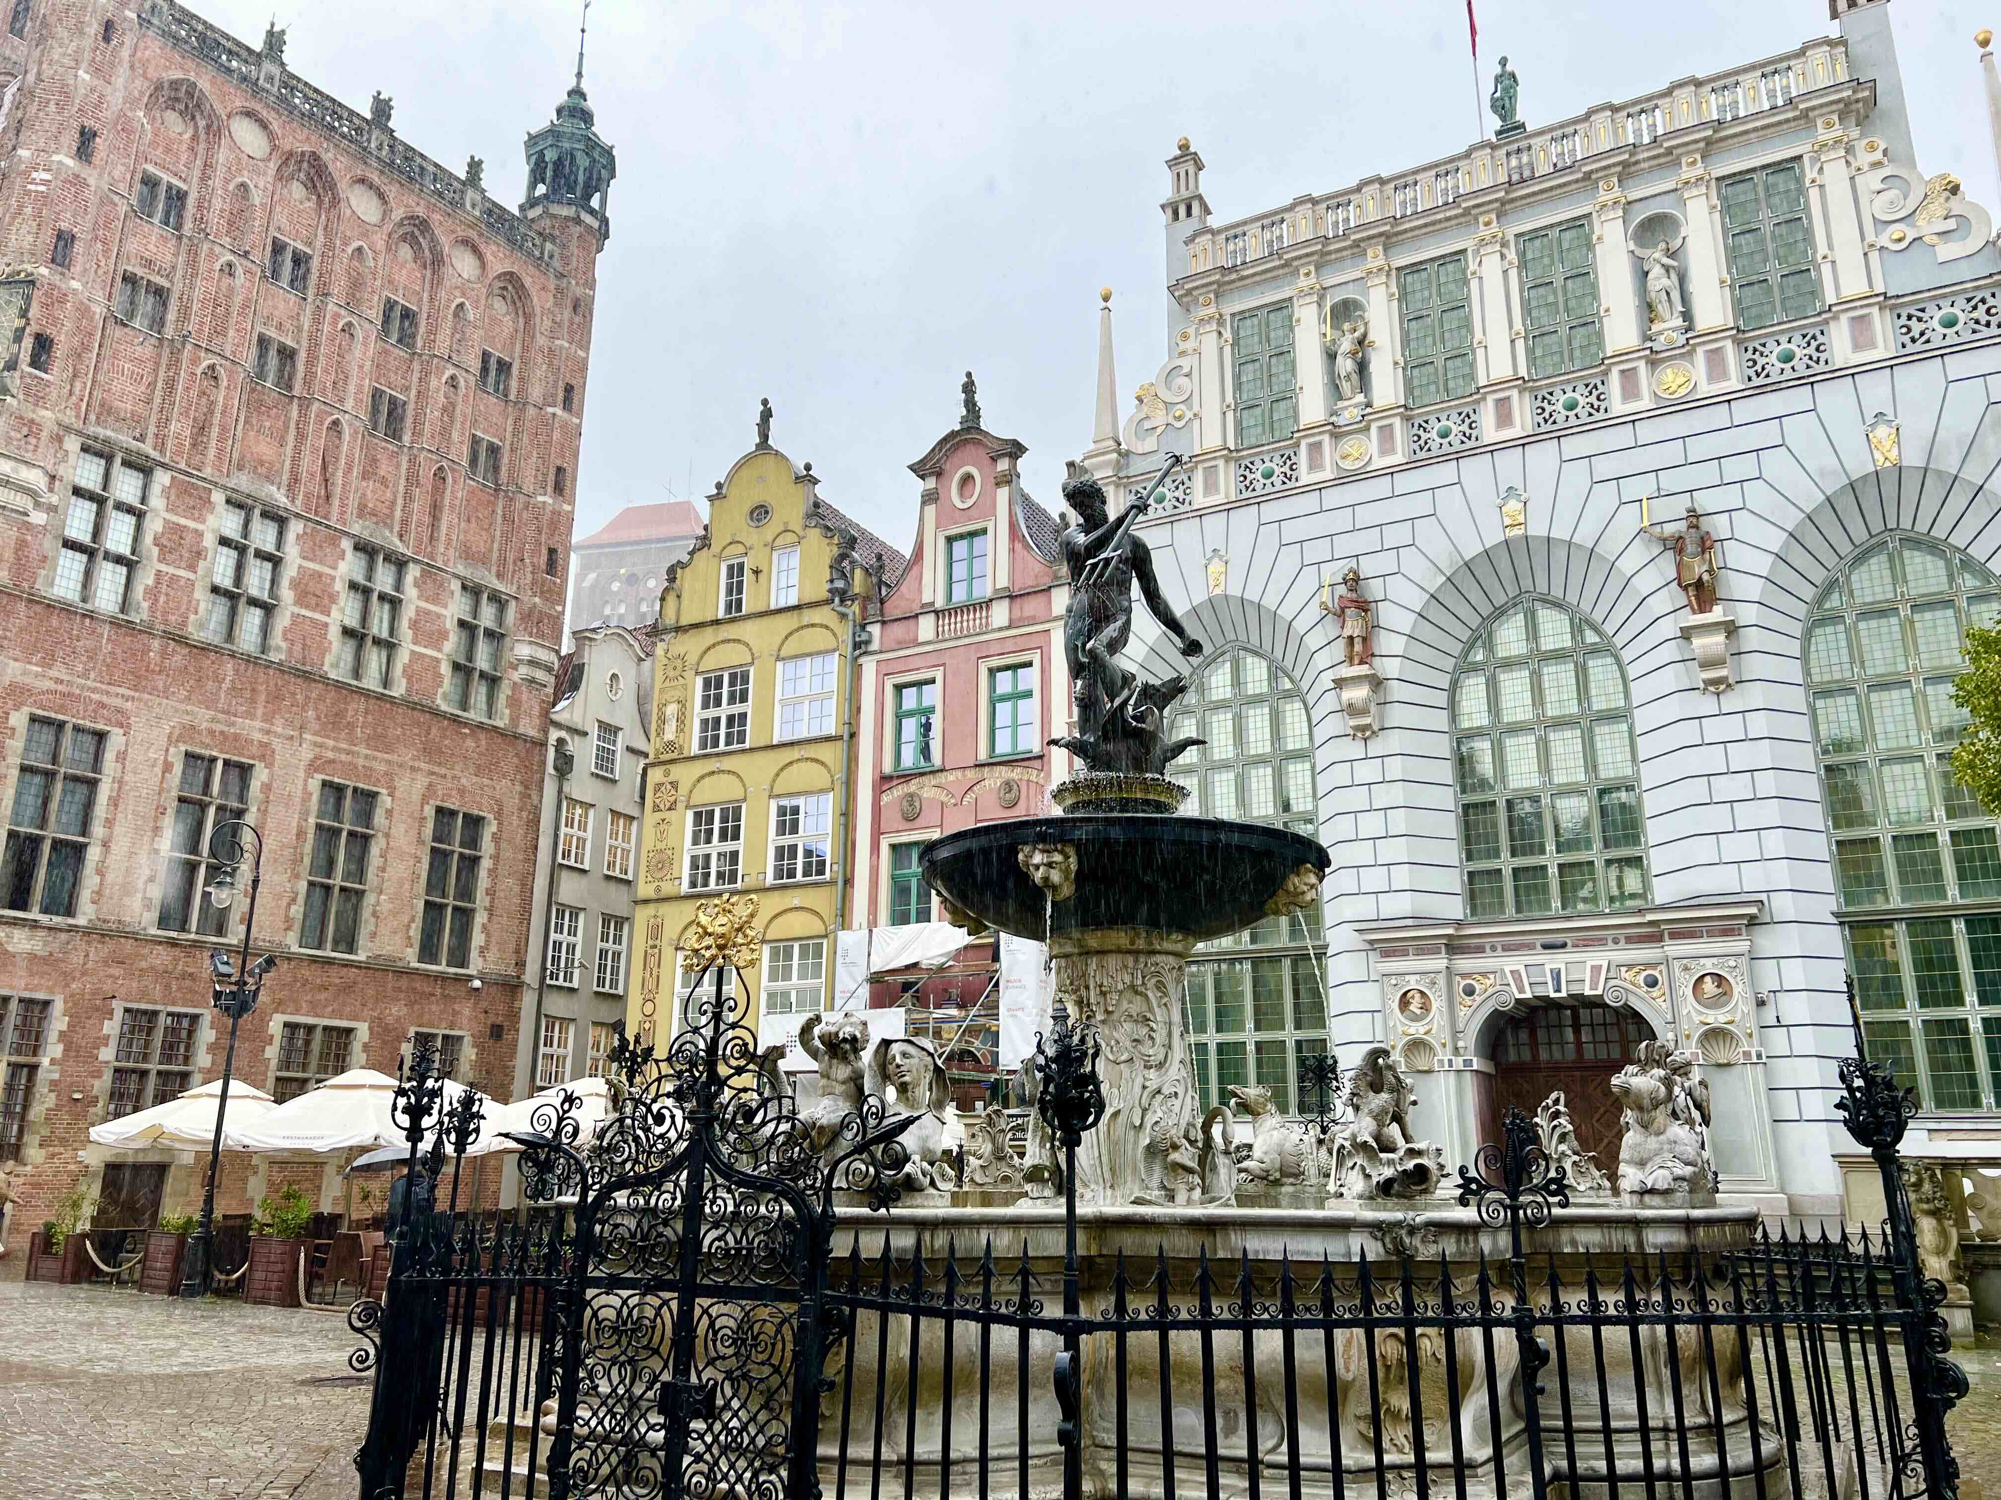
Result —
[{"label": "arched window directly above the ornate stone doorway", "polygon": [[1489,620],[1453,678],[1467,916],[1641,906],[1647,834],[1625,668],[1571,606]]}]

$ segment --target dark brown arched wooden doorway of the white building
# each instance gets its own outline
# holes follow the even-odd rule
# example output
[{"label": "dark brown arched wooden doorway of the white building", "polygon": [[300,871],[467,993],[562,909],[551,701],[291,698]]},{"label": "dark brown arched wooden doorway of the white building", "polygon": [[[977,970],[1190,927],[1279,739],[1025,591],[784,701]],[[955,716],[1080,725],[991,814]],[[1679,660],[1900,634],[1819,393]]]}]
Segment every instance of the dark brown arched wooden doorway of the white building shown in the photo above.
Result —
[{"label": "dark brown arched wooden doorway of the white building", "polygon": [[1607,1004],[1547,1004],[1511,1016],[1495,1034],[1493,1088],[1481,1110],[1483,1140],[1497,1140],[1501,1116],[1513,1104],[1535,1118],[1557,1090],[1571,1106],[1577,1142],[1599,1158],[1605,1176],[1619,1174],[1619,1104],[1611,1076],[1633,1060],[1653,1028],[1631,1010]]}]

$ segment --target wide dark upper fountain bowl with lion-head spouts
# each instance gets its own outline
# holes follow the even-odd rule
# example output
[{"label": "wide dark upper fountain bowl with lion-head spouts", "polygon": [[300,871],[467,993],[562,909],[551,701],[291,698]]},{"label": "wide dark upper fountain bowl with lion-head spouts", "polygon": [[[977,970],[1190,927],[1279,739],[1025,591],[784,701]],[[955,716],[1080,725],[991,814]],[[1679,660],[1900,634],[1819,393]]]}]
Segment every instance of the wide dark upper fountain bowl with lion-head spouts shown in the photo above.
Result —
[{"label": "wide dark upper fountain bowl with lion-head spouts", "polygon": [[1071,812],[962,828],[926,844],[920,868],[946,902],[1019,938],[1041,940],[1047,916],[1051,936],[1145,928],[1207,942],[1305,908],[1327,866],[1321,844],[1285,828]]}]

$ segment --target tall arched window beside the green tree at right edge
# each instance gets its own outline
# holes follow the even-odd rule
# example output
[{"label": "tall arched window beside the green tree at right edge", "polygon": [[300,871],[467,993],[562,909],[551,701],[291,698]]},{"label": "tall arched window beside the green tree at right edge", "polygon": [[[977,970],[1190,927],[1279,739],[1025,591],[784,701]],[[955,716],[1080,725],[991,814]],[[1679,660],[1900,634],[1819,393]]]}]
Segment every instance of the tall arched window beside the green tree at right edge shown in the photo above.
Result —
[{"label": "tall arched window beside the green tree at right edge", "polygon": [[1995,576],[1915,536],[1857,552],[1805,634],[1835,888],[1869,1052],[1933,1110],[2001,1092],[2001,846],[1953,780],[1967,624]]}]

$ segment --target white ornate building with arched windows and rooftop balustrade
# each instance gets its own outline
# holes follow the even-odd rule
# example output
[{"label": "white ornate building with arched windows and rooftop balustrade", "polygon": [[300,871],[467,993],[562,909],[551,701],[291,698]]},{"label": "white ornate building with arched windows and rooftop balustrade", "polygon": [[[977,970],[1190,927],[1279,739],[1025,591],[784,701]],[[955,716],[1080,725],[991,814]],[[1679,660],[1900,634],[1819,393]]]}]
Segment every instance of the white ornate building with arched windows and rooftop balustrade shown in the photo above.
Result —
[{"label": "white ornate building with arched windows and rooftop balustrade", "polygon": [[[1701,1058],[1723,1188],[1829,1212],[1847,970],[1913,1144],[2001,1152],[2001,844],[1947,766],[1997,612],[2001,254],[1913,154],[1893,6],[1831,10],[1233,222],[1169,158],[1173,346],[1121,422],[1107,342],[1085,462],[1131,494],[1189,458],[1145,524],[1231,648],[1183,700],[1189,810],[1333,852],[1325,934],[1191,970],[1211,1094],[1309,1106],[1301,1056],[1383,1040],[1451,1160],[1551,1088],[1609,1158],[1605,1080],[1659,1034]],[[1661,540],[1689,508],[1713,598]]]}]

